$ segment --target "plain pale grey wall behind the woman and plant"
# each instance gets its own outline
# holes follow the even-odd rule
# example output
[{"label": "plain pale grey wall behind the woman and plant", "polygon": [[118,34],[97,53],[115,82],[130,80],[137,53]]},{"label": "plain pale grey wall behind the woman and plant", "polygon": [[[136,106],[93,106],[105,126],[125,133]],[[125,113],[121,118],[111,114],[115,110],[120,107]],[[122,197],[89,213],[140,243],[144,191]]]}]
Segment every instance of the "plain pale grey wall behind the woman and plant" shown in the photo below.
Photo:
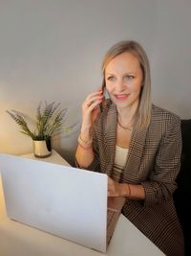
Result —
[{"label": "plain pale grey wall behind the woman and plant", "polygon": [[[67,123],[100,85],[108,48],[136,39],[152,70],[153,102],[191,117],[190,0],[0,0],[0,152],[32,151],[6,109],[30,115],[39,101],[68,106]],[[53,147],[71,163],[77,133]]]}]

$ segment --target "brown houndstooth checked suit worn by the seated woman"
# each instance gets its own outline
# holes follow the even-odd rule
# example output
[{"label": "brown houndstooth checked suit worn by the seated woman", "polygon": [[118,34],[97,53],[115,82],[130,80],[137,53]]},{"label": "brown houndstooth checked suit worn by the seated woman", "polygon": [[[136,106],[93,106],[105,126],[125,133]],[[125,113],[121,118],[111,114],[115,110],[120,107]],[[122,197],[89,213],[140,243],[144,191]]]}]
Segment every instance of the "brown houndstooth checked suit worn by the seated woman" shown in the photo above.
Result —
[{"label": "brown houndstooth checked suit worn by the seated woman", "polygon": [[[117,107],[108,101],[93,130],[95,159],[88,170],[112,177]],[[127,199],[123,214],[166,255],[183,255],[183,236],[172,194],[180,171],[180,118],[152,105],[148,128],[135,126],[120,183],[142,184],[144,200]]]}]

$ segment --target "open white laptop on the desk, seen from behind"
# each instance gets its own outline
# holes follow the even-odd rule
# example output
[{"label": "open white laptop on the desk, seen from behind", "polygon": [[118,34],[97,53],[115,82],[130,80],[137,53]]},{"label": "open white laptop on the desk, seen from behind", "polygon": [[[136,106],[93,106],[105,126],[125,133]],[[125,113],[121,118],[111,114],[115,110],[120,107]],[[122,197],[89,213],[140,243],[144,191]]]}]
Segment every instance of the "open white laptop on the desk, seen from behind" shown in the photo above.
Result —
[{"label": "open white laptop on the desk, seen from behind", "polygon": [[4,153],[0,172],[11,220],[106,252],[124,204],[107,175]]}]

